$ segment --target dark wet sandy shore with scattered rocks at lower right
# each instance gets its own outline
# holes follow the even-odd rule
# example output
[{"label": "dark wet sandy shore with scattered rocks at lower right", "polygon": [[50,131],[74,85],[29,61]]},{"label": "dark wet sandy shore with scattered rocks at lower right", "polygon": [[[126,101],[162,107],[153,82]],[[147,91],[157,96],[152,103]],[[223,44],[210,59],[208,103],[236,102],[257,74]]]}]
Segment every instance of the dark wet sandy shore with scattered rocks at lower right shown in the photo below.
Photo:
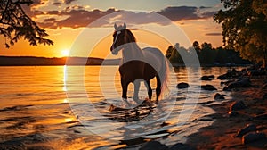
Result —
[{"label": "dark wet sandy shore with scattered rocks at lower right", "polygon": [[[187,144],[196,149],[266,149],[267,139],[255,140],[249,144],[242,143],[242,137],[236,137],[239,130],[247,124],[255,124],[256,132],[267,135],[267,76],[253,77],[251,87],[240,87],[232,91],[232,100],[222,104],[212,104],[210,107],[216,113],[209,115],[214,119],[211,126],[199,129],[188,137]],[[237,111],[239,114],[230,116],[231,104],[242,100],[245,109]]]}]

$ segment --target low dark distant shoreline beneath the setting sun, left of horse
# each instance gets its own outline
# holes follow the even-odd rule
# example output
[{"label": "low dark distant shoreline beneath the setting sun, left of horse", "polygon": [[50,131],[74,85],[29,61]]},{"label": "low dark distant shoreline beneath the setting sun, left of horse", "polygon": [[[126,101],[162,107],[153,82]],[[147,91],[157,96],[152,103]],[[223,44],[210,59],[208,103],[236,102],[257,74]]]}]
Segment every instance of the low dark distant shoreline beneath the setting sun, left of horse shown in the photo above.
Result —
[{"label": "low dark distant shoreline beneath the setting sun, left of horse", "polygon": [[[32,65],[65,65],[67,58],[45,58],[32,56],[0,56],[0,66],[32,66]],[[69,57],[68,65],[101,65],[103,59],[92,57]],[[117,60],[106,60],[105,64],[117,63]]]}]

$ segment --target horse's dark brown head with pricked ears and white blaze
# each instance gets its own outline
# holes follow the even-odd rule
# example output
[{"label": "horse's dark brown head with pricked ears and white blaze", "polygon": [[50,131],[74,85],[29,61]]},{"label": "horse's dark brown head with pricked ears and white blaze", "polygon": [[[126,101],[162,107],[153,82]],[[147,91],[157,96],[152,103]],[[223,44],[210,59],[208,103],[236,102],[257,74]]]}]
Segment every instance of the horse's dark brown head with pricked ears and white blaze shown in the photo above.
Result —
[{"label": "horse's dark brown head with pricked ears and white blaze", "polygon": [[113,44],[110,47],[110,51],[112,54],[117,54],[119,50],[124,48],[125,44],[135,42],[135,37],[129,29],[126,29],[125,23],[123,26],[117,26],[115,23],[114,28]]}]

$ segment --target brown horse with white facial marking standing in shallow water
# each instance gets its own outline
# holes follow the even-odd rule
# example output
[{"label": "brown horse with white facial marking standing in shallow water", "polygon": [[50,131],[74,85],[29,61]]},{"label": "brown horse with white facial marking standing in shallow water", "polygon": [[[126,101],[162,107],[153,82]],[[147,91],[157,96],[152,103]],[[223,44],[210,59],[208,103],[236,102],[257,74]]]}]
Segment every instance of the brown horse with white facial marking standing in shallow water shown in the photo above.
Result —
[{"label": "brown horse with white facial marking standing in shallow water", "polygon": [[166,56],[158,48],[146,47],[141,49],[137,45],[134,34],[126,29],[126,24],[117,26],[114,24],[113,43],[110,47],[112,54],[118,54],[122,50],[122,59],[119,64],[122,98],[127,99],[127,88],[134,83],[134,101],[138,100],[140,82],[145,81],[148,96],[152,98],[150,79],[157,79],[156,102],[159,96],[167,89],[168,63]]}]

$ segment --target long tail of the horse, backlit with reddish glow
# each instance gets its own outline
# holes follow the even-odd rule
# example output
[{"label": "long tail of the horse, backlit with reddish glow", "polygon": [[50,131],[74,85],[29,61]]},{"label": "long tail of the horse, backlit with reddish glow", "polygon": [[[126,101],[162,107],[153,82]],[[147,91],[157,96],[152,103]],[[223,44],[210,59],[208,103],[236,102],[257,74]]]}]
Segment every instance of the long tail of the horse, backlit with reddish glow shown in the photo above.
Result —
[{"label": "long tail of the horse, backlit with reddish glow", "polygon": [[168,88],[168,82],[169,82],[169,63],[166,60],[166,56],[163,55],[162,58],[162,66],[160,71],[158,72],[160,81],[161,81],[161,94],[160,97],[164,98],[164,96],[166,96],[166,93],[169,92],[169,88]]}]

